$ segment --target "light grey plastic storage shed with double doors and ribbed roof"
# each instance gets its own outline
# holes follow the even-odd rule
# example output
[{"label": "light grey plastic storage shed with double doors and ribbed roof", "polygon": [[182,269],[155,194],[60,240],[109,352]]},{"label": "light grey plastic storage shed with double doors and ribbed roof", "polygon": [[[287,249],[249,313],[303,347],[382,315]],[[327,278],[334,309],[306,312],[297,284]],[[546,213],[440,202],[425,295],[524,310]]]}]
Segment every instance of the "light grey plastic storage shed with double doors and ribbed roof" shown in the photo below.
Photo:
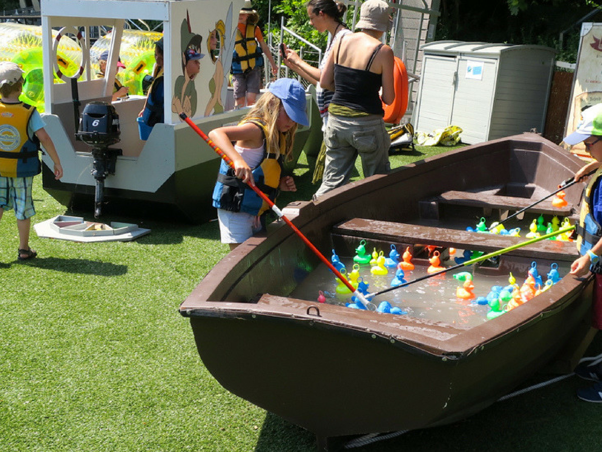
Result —
[{"label": "light grey plastic storage shed with double doors and ribbed roof", "polygon": [[457,125],[462,142],[474,144],[544,130],[554,49],[459,41],[421,49],[417,131]]}]

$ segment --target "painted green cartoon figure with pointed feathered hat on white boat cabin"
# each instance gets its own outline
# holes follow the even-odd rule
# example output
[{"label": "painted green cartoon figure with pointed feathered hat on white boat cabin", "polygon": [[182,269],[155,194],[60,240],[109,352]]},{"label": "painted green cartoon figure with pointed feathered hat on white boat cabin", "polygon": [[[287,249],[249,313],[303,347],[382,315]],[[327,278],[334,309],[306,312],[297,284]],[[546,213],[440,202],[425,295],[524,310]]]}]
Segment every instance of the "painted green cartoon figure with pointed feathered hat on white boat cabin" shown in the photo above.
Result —
[{"label": "painted green cartoon figure with pointed feathered hat on white boat cabin", "polygon": [[197,93],[194,87],[194,78],[200,72],[200,59],[205,56],[200,52],[203,37],[192,33],[190,28],[190,17],[186,11],[186,19],[182,20],[181,27],[181,45],[182,45],[182,74],[176,78],[172,111],[179,114],[186,113],[193,117],[196,114]]}]

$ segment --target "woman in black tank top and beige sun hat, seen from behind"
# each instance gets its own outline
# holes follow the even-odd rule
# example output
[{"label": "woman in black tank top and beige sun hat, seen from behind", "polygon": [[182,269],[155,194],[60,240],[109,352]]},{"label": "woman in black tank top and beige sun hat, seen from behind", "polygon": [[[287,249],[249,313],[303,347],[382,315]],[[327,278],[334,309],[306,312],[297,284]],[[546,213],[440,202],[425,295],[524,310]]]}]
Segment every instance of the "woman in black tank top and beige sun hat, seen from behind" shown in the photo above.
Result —
[{"label": "woman in black tank top and beige sun hat, seen from behind", "polygon": [[382,102],[391,104],[395,99],[395,63],[393,50],[380,39],[391,27],[391,13],[382,0],[365,1],[357,24],[361,31],[341,36],[321,71],[320,86],[334,95],[324,131],[324,175],[316,197],[346,184],[358,155],[364,177],[390,169],[391,140]]}]

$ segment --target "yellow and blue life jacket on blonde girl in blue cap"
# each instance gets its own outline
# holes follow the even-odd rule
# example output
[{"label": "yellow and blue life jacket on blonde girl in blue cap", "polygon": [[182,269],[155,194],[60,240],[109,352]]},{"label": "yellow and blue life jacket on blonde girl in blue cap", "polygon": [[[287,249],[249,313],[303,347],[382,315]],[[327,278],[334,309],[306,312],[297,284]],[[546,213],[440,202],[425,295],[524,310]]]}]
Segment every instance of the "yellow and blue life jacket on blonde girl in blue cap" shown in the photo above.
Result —
[{"label": "yellow and blue life jacket on blonde girl in blue cap", "polygon": [[[253,169],[253,180],[255,186],[265,193],[272,202],[278,195],[280,175],[282,172],[282,155],[284,155],[285,137],[280,134],[280,153],[275,154],[267,151],[267,129],[264,122],[259,118],[247,118],[240,124],[251,122],[257,125],[264,134],[263,160]],[[259,198],[246,183],[237,178],[234,169],[222,160],[220,171],[217,174],[216,186],[213,189],[213,207],[229,210],[231,212],[245,212],[250,215],[261,215],[269,209],[267,202]]]}]

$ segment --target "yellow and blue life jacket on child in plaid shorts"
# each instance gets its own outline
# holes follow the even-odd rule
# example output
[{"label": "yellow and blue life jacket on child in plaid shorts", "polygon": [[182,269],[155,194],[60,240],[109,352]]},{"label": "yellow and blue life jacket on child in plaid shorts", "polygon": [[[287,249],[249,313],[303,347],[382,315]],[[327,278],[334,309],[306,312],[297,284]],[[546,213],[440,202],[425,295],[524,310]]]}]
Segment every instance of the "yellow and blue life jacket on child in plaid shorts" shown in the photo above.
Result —
[{"label": "yellow and blue life jacket on child in plaid shorts", "polygon": [[0,101],[0,176],[30,177],[40,174],[40,140],[29,137],[27,126],[36,107]]}]

